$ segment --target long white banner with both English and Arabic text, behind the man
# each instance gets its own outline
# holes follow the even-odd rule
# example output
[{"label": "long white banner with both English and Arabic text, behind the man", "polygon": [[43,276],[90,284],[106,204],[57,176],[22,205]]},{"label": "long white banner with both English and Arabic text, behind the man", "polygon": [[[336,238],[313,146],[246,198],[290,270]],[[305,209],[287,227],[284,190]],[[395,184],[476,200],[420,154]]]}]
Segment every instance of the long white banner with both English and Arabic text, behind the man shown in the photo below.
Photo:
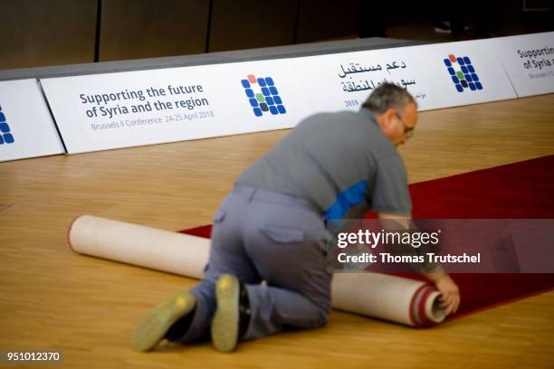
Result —
[{"label": "long white banner with both English and Arabic text, behind the man", "polygon": [[42,80],[70,154],[291,128],[359,109],[383,81],[440,109],[515,92],[481,42]]}]

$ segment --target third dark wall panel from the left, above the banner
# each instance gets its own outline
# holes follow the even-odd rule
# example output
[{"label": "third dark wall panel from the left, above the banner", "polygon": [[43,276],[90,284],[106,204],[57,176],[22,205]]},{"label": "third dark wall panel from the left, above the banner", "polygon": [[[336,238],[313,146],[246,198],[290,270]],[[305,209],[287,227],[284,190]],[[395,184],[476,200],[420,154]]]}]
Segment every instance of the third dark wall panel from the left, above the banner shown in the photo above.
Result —
[{"label": "third dark wall panel from the left, above the banner", "polygon": [[297,0],[214,0],[210,52],[293,43]]}]

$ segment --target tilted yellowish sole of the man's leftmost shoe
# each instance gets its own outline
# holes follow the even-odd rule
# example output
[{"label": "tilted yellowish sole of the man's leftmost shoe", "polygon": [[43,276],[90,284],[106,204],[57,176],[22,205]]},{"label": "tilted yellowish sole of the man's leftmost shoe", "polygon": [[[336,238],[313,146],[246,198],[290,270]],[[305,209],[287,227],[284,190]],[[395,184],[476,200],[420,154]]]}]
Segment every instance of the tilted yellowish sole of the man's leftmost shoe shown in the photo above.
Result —
[{"label": "tilted yellowish sole of the man's leftmost shoe", "polygon": [[196,305],[196,298],[188,291],[167,298],[152,307],[135,327],[132,337],[133,348],[149,351],[164,339],[167,330],[181,317],[188,314]]}]

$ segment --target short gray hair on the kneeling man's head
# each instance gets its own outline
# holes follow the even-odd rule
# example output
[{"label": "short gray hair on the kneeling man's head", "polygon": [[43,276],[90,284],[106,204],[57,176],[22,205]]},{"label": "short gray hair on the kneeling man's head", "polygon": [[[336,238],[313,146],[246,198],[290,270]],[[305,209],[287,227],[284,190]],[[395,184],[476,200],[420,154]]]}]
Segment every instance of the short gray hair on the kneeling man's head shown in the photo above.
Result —
[{"label": "short gray hair on the kneeling man's head", "polygon": [[362,104],[362,108],[366,108],[374,114],[382,114],[391,108],[401,112],[410,102],[416,103],[416,100],[406,89],[387,82],[373,90],[366,102]]}]

